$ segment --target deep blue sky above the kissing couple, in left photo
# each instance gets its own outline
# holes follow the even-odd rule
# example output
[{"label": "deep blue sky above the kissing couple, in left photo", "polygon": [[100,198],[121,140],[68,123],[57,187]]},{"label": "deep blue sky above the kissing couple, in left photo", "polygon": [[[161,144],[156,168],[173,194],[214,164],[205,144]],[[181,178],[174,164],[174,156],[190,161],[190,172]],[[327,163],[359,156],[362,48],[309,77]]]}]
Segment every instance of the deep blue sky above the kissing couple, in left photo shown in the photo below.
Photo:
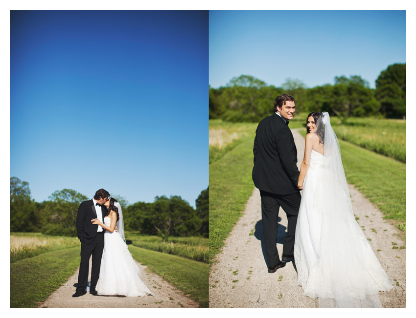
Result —
[{"label": "deep blue sky above the kissing couple, in left photo", "polygon": [[10,176],[32,198],[208,187],[208,11],[11,11]]}]

